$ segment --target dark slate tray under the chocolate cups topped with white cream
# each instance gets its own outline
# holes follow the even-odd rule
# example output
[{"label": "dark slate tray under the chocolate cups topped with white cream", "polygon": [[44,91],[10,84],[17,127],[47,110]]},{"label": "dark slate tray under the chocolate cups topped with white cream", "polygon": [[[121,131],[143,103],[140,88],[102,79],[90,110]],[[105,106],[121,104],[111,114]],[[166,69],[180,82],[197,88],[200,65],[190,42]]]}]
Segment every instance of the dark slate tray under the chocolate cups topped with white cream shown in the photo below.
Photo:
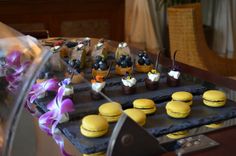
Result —
[{"label": "dark slate tray under the chocolate cups topped with white cream", "polygon": [[[137,79],[137,88],[136,93],[132,95],[124,95],[121,90],[121,77],[113,77],[107,80],[105,94],[110,98],[110,100],[117,101],[122,104],[122,107],[128,108],[132,107],[132,101],[137,98],[150,98],[155,102],[163,102],[171,99],[171,94],[176,91],[188,91],[194,95],[200,95],[207,90],[206,87],[201,84],[193,84],[192,82],[182,81],[181,86],[179,87],[168,87],[166,84],[165,74],[161,75],[159,88],[154,91],[149,91],[145,88],[144,79],[146,74],[137,74],[135,75]],[[107,99],[101,100],[92,100],[90,96],[91,86],[89,83],[81,83],[74,86],[75,93],[73,95],[75,111],[69,113],[71,120],[80,119],[81,117],[96,113],[98,107],[108,102]],[[43,99],[38,99],[35,101],[36,105],[47,112],[46,104],[48,104],[55,95],[48,95]]]}]

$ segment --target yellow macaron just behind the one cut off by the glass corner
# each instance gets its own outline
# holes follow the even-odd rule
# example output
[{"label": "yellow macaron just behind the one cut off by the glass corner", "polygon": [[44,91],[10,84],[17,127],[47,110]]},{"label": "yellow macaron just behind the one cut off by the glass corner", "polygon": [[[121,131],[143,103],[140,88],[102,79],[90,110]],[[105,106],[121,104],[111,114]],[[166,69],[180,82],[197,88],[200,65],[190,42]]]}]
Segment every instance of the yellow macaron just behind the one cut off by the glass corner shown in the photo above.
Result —
[{"label": "yellow macaron just behind the one cut off by the glass corner", "polygon": [[153,114],[156,111],[156,105],[151,99],[136,99],[133,101],[133,106],[145,114]]}]

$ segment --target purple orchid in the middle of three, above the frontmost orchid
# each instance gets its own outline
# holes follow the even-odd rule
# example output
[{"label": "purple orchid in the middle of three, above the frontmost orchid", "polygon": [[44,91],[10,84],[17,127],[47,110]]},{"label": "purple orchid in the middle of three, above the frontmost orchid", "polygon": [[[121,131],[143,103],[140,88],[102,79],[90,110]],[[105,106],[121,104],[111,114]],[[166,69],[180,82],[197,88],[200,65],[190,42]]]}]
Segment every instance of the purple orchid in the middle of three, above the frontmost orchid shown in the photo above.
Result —
[{"label": "purple orchid in the middle of three, above the frontmost orchid", "polygon": [[48,79],[44,82],[34,84],[29,92],[28,99],[26,101],[26,108],[32,115],[34,115],[36,113],[36,109],[32,107],[34,100],[45,94],[46,91],[56,92],[58,88],[58,81],[56,79]]}]

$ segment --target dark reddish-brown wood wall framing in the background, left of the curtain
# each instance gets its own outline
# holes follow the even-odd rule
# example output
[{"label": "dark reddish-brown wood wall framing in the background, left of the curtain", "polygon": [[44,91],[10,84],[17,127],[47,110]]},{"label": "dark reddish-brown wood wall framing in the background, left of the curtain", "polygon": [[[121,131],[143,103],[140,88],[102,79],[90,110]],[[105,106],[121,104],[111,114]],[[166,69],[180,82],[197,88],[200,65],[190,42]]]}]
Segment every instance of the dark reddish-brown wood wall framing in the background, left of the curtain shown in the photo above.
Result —
[{"label": "dark reddish-brown wood wall framing in the background, left of the curtain", "polygon": [[124,0],[9,0],[0,1],[0,9],[3,23],[42,23],[50,36],[61,36],[64,21],[106,20],[110,29],[105,36],[118,41],[124,39]]}]

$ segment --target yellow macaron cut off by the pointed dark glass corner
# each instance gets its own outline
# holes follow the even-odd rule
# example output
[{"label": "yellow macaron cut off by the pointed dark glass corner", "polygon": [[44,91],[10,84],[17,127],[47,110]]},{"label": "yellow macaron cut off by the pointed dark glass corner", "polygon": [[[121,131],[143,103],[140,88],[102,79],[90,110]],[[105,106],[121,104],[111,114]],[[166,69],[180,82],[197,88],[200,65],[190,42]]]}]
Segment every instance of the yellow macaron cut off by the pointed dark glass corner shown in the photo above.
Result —
[{"label": "yellow macaron cut off by the pointed dark glass corner", "polygon": [[145,125],[146,123],[146,114],[135,108],[129,108],[124,111],[131,119],[133,119],[136,123],[138,123],[140,126]]}]

